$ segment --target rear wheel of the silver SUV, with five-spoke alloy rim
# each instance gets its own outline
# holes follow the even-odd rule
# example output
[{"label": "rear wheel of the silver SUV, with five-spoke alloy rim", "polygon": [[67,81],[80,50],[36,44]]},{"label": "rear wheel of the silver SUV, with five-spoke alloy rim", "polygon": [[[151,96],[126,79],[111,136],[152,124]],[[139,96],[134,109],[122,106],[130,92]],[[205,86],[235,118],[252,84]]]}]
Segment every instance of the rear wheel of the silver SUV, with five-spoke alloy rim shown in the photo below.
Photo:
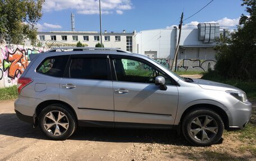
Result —
[{"label": "rear wheel of the silver SUV, with five-spoke alloy rim", "polygon": [[76,126],[74,113],[63,104],[48,105],[39,114],[39,128],[52,140],[66,140]]}]

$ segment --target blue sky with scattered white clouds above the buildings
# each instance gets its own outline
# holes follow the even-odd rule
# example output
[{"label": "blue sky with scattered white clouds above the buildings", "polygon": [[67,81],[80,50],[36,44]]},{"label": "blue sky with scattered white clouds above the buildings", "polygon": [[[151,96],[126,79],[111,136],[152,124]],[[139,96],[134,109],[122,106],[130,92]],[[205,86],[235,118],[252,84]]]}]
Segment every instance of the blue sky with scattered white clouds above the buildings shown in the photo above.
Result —
[{"label": "blue sky with scattered white clouds above the buildings", "polygon": [[[100,0],[102,31],[131,33],[136,30],[168,29],[202,9],[212,0]],[[199,22],[236,26],[245,12],[240,0],[213,0],[202,11],[183,22],[183,29]],[[71,13],[76,31],[99,31],[99,0],[45,0],[39,31],[71,31]],[[194,25],[194,26],[193,26]],[[226,28],[226,27],[225,27]],[[230,27],[234,29],[234,27]]]}]

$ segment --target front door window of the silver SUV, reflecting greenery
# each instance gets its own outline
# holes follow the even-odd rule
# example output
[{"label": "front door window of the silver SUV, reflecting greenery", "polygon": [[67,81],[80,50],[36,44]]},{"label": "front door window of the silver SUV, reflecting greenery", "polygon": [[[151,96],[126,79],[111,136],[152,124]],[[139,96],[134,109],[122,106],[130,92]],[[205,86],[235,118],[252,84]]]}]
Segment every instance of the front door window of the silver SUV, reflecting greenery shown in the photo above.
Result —
[{"label": "front door window of the silver SUV, reflecting greenery", "polygon": [[166,73],[159,72],[152,65],[133,59],[113,59],[117,81],[141,82],[154,84],[157,76],[166,79],[166,85],[172,80]]}]

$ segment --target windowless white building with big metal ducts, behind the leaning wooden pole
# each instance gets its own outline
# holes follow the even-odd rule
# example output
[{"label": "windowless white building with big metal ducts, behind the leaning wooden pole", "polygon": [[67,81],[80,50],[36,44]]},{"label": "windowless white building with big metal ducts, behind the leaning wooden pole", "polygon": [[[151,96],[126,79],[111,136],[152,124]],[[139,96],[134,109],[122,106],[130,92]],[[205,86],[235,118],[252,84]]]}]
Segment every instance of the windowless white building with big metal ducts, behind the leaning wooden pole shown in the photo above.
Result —
[{"label": "windowless white building with big metal ducts, behind the leaning wooden pole", "polygon": [[[173,58],[179,29],[145,30],[135,34],[136,53],[151,58]],[[198,29],[182,29],[178,59],[215,59],[218,24],[199,24]]]}]

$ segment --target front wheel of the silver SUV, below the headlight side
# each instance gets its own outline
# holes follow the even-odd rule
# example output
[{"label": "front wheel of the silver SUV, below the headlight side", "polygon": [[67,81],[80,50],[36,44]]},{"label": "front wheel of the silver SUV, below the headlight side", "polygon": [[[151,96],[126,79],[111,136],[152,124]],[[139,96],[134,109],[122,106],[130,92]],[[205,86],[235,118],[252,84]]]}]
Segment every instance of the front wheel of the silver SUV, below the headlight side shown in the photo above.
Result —
[{"label": "front wheel of the silver SUV, below the headlight side", "polygon": [[221,139],[224,123],[216,112],[199,108],[186,114],[181,128],[186,140],[191,144],[209,146]]}]

